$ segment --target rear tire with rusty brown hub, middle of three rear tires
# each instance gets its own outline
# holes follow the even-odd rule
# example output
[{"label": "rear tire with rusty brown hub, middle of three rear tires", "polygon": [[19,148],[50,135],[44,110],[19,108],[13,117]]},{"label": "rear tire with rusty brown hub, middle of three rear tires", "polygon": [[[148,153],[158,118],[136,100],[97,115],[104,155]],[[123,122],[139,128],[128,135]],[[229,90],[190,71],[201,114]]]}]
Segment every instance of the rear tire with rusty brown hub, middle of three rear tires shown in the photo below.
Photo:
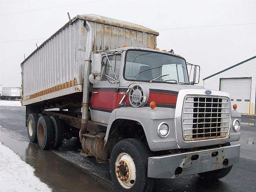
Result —
[{"label": "rear tire with rusty brown hub, middle of three rear tires", "polygon": [[54,143],[54,127],[48,116],[40,116],[37,123],[37,140],[40,148],[50,149]]}]

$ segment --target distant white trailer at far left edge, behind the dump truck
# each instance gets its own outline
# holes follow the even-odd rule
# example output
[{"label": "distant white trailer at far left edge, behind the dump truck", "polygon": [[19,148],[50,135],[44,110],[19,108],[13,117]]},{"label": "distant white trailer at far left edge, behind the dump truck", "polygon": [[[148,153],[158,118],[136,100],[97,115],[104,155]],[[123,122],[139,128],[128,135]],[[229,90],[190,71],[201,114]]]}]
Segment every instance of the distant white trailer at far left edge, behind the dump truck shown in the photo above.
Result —
[{"label": "distant white trailer at far left edge, behind the dump truck", "polygon": [[21,99],[21,87],[1,87],[1,99]]}]

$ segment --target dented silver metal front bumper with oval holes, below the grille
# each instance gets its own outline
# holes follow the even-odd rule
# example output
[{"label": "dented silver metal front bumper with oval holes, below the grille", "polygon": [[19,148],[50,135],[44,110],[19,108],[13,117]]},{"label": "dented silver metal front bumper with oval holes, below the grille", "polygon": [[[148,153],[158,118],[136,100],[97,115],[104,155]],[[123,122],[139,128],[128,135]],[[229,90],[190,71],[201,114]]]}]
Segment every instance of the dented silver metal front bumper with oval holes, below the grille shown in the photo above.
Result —
[{"label": "dented silver metal front bumper with oval holes, below the grille", "polygon": [[[218,155],[216,156],[217,152]],[[212,157],[212,154],[214,157]],[[197,157],[198,159],[194,160]],[[194,152],[150,157],[148,158],[148,177],[177,178],[208,172],[231,166],[238,162],[239,157],[240,144]],[[228,164],[226,159],[228,159]]]}]

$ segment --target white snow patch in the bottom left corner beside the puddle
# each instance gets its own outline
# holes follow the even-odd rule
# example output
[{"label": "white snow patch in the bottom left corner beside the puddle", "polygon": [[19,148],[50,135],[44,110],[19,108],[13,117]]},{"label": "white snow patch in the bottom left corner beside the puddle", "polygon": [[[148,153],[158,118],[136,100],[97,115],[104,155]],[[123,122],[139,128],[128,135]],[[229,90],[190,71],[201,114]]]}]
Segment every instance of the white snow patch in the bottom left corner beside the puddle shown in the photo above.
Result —
[{"label": "white snow patch in the bottom left corner beside the puddle", "polygon": [[34,175],[32,166],[0,143],[0,191],[51,192],[52,190]]}]

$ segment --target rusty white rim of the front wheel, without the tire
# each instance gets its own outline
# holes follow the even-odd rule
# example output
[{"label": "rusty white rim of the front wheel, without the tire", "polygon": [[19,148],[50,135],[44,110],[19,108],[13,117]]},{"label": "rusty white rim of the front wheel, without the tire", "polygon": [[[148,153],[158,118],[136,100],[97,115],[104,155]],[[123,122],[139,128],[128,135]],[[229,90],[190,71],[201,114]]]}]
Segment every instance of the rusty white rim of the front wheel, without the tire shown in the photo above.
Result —
[{"label": "rusty white rim of the front wheel, without the tire", "polygon": [[127,153],[121,153],[116,158],[116,178],[123,188],[130,189],[136,182],[136,167]]}]

